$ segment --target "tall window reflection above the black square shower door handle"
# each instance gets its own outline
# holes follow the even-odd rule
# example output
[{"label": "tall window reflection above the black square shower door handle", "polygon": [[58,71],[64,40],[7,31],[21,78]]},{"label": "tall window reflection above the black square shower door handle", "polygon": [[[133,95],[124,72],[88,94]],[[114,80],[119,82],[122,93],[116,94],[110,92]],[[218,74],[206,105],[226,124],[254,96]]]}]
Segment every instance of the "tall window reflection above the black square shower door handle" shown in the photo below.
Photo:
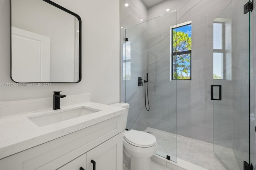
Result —
[{"label": "tall window reflection above the black square shower door handle", "polygon": [[213,23],[213,79],[231,80],[231,21],[224,18]]}]

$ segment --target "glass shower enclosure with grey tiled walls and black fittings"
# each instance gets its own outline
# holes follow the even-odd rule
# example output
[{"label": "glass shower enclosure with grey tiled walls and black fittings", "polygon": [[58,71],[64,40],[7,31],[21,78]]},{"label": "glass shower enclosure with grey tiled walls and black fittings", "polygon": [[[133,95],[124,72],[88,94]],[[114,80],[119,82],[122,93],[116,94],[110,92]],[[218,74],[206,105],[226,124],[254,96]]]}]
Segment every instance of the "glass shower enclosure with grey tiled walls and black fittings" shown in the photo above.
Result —
[{"label": "glass shower enclosure with grey tiled walls and black fittings", "polygon": [[[180,158],[209,170],[243,170],[244,161],[250,164],[246,2],[230,0],[215,16],[206,10],[191,14],[191,19],[175,10],[122,32],[121,101],[130,104],[126,128],[156,136],[156,154],[163,159]],[[175,34],[182,32],[180,26],[192,27],[184,31],[186,52],[174,43],[181,38]],[[175,77],[177,56],[184,61],[179,67],[186,67],[179,75],[182,80]],[[211,156],[215,162],[208,164]]]}]

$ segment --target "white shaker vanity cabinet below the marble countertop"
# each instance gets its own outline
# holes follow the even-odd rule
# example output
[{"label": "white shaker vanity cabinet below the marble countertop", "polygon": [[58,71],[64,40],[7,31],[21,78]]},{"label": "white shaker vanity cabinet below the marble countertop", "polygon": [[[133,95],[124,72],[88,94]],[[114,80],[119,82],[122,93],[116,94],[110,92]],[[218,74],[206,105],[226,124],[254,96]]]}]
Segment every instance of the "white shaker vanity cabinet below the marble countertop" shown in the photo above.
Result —
[{"label": "white shaker vanity cabinet below the marble countertop", "polygon": [[[122,170],[122,115],[0,160],[0,170]],[[82,168],[80,168],[82,167]]]}]

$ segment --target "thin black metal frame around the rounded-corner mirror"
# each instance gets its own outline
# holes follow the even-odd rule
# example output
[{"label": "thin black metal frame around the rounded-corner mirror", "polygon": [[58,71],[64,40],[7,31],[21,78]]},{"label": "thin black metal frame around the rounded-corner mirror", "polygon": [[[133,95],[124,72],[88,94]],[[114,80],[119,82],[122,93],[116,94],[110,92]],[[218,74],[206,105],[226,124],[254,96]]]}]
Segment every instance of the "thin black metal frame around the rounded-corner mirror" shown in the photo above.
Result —
[{"label": "thin black metal frame around the rounded-corner mirror", "polygon": [[74,12],[56,4],[55,2],[52,2],[51,0],[42,0],[44,2],[47,2],[48,4],[55,6],[56,8],[59,8],[60,10],[63,10],[64,12],[67,12],[71,14],[72,16],[75,16],[78,19],[79,22],[79,79],[77,82],[16,82],[12,79],[12,0],[10,0],[10,78],[15,83],[79,83],[82,80],[82,19],[78,14],[75,14]]}]

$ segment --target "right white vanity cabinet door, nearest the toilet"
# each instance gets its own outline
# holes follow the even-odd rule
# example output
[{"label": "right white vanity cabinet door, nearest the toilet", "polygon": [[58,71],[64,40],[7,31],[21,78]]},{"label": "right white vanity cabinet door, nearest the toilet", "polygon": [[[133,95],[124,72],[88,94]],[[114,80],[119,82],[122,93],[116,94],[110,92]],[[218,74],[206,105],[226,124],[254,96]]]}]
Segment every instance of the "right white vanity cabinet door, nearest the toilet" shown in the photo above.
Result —
[{"label": "right white vanity cabinet door, nearest the toilet", "polygon": [[122,147],[122,133],[119,133],[88,151],[86,170],[122,170]]}]

